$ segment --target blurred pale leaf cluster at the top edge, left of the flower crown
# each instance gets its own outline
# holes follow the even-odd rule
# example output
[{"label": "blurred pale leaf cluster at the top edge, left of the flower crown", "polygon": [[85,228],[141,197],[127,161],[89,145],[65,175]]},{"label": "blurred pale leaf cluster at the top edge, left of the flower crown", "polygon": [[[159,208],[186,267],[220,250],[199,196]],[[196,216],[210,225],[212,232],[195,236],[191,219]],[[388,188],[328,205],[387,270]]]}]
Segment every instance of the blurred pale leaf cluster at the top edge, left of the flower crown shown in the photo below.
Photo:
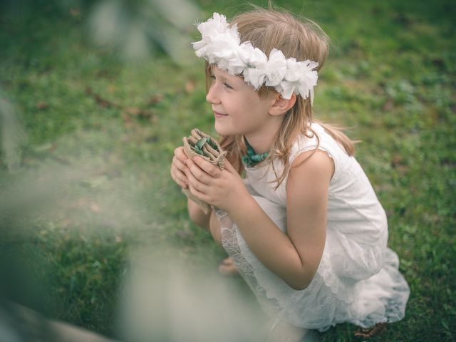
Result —
[{"label": "blurred pale leaf cluster at the top edge, left of the flower crown", "polygon": [[95,43],[115,46],[125,60],[147,58],[160,46],[182,64],[192,56],[189,33],[198,14],[189,0],[102,0],[88,24]]}]

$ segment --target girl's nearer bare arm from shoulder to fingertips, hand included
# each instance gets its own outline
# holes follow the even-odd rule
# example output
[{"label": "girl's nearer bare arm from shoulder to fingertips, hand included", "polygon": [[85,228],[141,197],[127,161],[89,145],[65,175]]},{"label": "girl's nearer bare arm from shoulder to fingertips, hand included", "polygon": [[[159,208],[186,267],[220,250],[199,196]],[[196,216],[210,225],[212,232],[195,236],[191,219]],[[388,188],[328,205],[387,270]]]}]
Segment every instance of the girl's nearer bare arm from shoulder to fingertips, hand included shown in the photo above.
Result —
[{"label": "girl's nearer bare arm from shoulder to fingertips, hand included", "polygon": [[[307,157],[308,160],[302,162]],[[326,208],[333,162],[326,152],[304,152],[287,181],[287,234],[281,232],[249,194],[234,167],[219,170],[202,158],[187,160],[190,191],[224,209],[266,267],[294,289],[309,286],[323,253]]]}]

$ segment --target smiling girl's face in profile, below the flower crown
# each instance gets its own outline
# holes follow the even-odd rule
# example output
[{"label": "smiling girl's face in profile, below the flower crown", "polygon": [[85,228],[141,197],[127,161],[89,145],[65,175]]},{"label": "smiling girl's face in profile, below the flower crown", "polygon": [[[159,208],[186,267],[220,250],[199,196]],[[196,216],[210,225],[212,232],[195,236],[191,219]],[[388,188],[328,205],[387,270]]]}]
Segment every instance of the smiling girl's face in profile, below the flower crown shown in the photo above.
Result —
[{"label": "smiling girl's face in profile, below the flower crown", "polygon": [[214,128],[219,135],[271,134],[269,108],[275,95],[269,92],[259,96],[252,86],[239,76],[212,66],[212,83],[206,95],[214,112]]}]

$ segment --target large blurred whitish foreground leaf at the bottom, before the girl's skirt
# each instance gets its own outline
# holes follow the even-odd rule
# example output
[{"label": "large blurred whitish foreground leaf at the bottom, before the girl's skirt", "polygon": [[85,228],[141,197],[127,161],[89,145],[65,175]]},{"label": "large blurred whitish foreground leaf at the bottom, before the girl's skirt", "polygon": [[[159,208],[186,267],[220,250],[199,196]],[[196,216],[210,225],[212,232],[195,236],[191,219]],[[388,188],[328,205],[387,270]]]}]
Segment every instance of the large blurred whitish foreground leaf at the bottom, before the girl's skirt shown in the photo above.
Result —
[{"label": "large blurred whitish foreground leaf at the bottom, before the girl's skirt", "polygon": [[119,306],[125,341],[264,341],[258,308],[219,274],[190,271],[179,252],[130,260]]}]

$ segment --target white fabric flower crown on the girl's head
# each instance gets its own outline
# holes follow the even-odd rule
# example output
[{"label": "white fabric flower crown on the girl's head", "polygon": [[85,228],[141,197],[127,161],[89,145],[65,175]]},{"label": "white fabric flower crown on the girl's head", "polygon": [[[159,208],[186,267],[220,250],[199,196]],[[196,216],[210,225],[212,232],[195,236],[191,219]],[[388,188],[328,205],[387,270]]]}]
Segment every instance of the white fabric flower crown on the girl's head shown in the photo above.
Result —
[{"label": "white fabric flower crown on the girl's head", "polygon": [[310,96],[314,100],[314,86],[318,66],[314,61],[296,61],[286,58],[282,51],[272,49],[269,58],[259,48],[254,48],[250,41],[241,43],[237,25],[229,27],[224,15],[214,13],[212,18],[197,24],[202,39],[193,44],[198,57],[203,57],[218,68],[231,75],[244,76],[244,81],[255,90],[261,85],[274,87],[287,100],[291,94],[300,94],[303,98]]}]

